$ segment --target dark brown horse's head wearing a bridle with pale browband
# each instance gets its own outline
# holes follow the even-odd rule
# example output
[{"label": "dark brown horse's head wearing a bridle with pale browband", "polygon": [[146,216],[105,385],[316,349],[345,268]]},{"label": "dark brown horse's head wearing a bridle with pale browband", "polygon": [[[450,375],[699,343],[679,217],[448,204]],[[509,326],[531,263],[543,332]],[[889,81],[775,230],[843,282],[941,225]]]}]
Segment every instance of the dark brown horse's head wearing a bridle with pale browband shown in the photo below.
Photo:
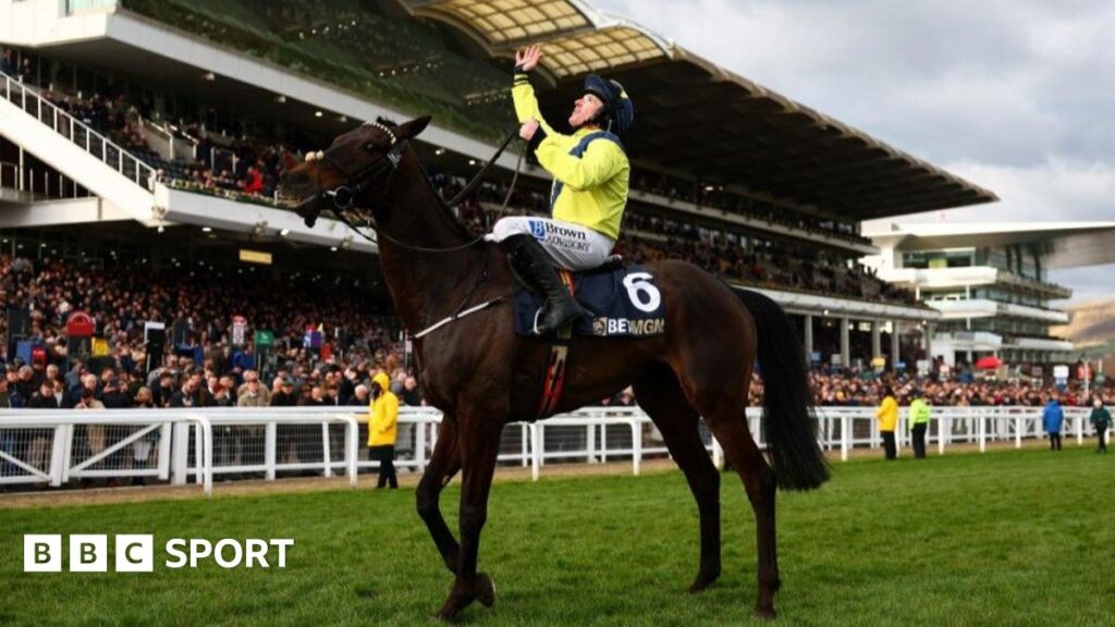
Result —
[{"label": "dark brown horse's head wearing a bridle with pale browband", "polygon": [[283,173],[279,200],[294,208],[308,226],[322,211],[382,204],[388,181],[399,166],[407,139],[416,137],[429,116],[392,125],[366,122],[333,139],[324,151]]}]

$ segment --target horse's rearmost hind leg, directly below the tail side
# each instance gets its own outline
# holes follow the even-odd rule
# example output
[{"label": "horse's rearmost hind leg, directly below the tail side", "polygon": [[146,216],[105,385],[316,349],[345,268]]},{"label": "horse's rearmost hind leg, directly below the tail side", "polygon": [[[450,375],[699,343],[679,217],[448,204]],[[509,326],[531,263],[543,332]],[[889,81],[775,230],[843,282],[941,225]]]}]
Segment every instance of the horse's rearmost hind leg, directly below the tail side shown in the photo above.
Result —
[{"label": "horse's rearmost hind leg, directly below the tail side", "polygon": [[[763,452],[755,444],[744,417],[744,403],[718,403],[718,409],[706,413],[705,419],[724,448],[725,456],[739,473],[747,489],[747,498],[755,511],[755,536],[758,544],[758,599],[755,615],[774,618],[774,595],[778,590],[778,553],[775,546],[775,483],[774,471],[767,465]],[[723,409],[720,409],[723,407]]]}]

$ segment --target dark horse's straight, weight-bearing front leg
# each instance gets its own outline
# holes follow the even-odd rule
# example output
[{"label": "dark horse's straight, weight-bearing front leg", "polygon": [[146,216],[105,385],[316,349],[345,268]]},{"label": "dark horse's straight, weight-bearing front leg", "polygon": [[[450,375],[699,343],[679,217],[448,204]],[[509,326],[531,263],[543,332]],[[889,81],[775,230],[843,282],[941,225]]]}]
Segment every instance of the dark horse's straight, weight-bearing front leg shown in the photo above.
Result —
[{"label": "dark horse's straight, weight-bearing front leg", "polygon": [[500,412],[474,408],[462,412],[458,423],[457,447],[460,451],[460,551],[457,556],[457,579],[449,598],[442,606],[438,617],[449,620],[473,600],[485,607],[495,602],[492,579],[476,572],[479,557],[481,531],[487,520],[487,498],[500,453],[500,434],[503,421]]}]

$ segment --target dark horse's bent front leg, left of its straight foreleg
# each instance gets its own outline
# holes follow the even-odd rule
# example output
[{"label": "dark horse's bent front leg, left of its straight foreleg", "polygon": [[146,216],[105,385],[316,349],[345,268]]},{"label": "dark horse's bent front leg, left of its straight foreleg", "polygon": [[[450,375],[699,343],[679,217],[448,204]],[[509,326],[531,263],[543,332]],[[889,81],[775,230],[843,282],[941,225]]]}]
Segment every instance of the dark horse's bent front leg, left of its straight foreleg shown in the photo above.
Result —
[{"label": "dark horse's bent front leg, left of its straight foreleg", "polygon": [[453,416],[445,416],[437,433],[437,443],[434,445],[429,465],[418,482],[415,499],[418,515],[429,529],[429,534],[434,538],[434,543],[437,544],[437,550],[442,553],[449,572],[457,571],[457,554],[460,547],[449,531],[449,525],[445,523],[445,518],[442,517],[439,498],[442,490],[448,485],[458,470],[460,470],[460,448],[457,446],[457,424]]}]

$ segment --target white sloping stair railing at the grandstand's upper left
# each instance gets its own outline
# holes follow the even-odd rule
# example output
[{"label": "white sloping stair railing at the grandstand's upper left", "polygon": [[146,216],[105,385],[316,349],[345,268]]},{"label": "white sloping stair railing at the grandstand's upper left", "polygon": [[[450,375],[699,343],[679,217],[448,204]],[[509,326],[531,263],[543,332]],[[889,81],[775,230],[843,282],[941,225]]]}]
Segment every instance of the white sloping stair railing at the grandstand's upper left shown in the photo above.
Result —
[{"label": "white sloping stair railing at the grandstand's upper left", "polygon": [[0,77],[3,78],[3,98],[6,100],[51,127],[55,133],[100,160],[105,165],[116,170],[117,173],[129,179],[136,185],[144,190],[151,190],[151,182],[155,174],[153,167],[43,98],[38,91],[20,83],[19,79],[3,73],[0,73]]}]

